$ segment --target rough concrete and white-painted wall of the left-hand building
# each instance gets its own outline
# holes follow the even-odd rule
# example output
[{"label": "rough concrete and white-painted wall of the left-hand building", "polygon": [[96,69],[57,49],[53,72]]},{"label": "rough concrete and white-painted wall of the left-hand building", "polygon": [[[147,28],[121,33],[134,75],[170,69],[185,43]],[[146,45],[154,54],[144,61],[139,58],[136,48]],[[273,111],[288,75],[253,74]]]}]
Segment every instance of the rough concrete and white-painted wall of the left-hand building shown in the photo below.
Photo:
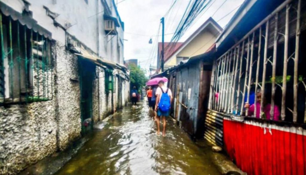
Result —
[{"label": "rough concrete and white-painted wall of the left-hand building", "polygon": [[[20,13],[23,11],[22,0],[0,1]],[[29,0],[29,2],[33,18],[52,33],[53,39],[52,73],[50,70],[49,73],[43,74],[39,69],[37,76],[37,70],[34,69],[33,76],[37,77],[34,79],[34,87],[38,88],[38,82],[42,84],[45,75],[52,80],[52,85],[50,81],[45,87],[49,90],[47,95],[53,98],[43,102],[0,105],[0,174],[18,173],[26,166],[56,151],[64,150],[81,136],[78,57],[67,50],[65,43],[67,34],[74,35],[89,52],[123,64],[123,28],[118,28],[119,35],[105,37],[103,13],[89,18],[96,12],[103,11],[100,0],[88,1],[88,4],[84,0]],[[112,7],[112,16],[119,18],[113,7],[113,1],[107,0],[107,2]],[[65,30],[55,27],[53,19],[46,15],[43,5],[59,14],[56,21],[62,26],[76,22],[75,25]],[[94,79],[92,86],[92,118],[97,122],[113,112],[114,107],[120,108],[121,104],[124,105],[128,101],[129,81],[119,81],[114,75],[114,92],[105,92],[104,70],[96,66],[93,71],[96,71],[98,77]],[[122,71],[119,72],[123,74]],[[43,86],[39,86],[39,94],[42,92]],[[38,95],[38,89],[34,94]],[[118,105],[119,97],[124,97],[121,99],[124,103],[120,105]]]}]

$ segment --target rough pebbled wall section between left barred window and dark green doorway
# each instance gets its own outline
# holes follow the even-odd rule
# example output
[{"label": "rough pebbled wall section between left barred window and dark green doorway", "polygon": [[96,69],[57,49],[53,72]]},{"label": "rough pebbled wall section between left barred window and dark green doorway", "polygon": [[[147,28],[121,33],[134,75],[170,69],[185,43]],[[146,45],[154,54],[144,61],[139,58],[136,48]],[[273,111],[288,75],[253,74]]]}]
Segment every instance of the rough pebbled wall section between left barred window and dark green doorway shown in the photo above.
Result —
[{"label": "rough pebbled wall section between left barred window and dark green doorway", "polygon": [[65,45],[57,42],[53,49],[56,55],[56,87],[58,121],[58,146],[65,149],[71,141],[80,137],[80,83],[71,81],[79,79],[77,57],[65,49]]}]

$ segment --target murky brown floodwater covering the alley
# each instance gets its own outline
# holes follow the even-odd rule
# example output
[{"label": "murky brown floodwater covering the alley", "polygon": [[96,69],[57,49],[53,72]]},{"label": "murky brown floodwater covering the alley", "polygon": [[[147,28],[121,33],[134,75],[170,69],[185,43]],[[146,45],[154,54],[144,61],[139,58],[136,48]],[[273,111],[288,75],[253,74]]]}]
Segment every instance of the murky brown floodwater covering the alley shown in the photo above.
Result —
[{"label": "murky brown floodwater covering the alley", "polygon": [[166,137],[145,104],[115,114],[56,174],[220,174],[210,147],[199,148],[168,118]]}]

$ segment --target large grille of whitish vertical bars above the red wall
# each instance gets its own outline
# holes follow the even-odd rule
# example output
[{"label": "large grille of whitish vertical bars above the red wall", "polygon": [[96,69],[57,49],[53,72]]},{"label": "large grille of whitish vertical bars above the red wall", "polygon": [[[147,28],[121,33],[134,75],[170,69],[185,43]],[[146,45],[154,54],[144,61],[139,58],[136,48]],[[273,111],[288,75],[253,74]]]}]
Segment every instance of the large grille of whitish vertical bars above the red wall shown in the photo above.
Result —
[{"label": "large grille of whitish vertical bars above the red wall", "polygon": [[306,71],[302,69],[306,60],[301,52],[306,39],[305,6],[305,1],[285,1],[215,61],[211,109],[248,116],[247,102],[254,104],[256,115],[256,98],[251,95],[256,97],[261,89],[260,118],[266,118],[267,100],[271,104],[267,119],[273,119],[274,109],[279,108],[280,120],[306,121]]}]

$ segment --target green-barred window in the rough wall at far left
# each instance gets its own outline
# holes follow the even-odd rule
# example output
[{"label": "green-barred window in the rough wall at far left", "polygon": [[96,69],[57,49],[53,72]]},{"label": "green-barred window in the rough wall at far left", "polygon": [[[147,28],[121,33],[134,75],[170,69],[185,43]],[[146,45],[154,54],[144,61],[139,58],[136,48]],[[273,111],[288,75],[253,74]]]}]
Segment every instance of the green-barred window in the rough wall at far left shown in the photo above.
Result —
[{"label": "green-barred window in the rough wall at far left", "polygon": [[51,42],[0,13],[0,104],[52,99]]}]

